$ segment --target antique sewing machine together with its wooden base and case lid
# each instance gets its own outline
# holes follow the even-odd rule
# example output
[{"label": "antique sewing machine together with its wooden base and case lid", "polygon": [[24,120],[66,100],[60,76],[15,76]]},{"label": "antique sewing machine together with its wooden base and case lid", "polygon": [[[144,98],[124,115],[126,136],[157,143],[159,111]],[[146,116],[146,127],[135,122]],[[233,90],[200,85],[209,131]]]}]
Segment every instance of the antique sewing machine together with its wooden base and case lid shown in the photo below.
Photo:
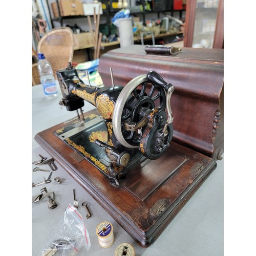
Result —
[{"label": "antique sewing machine together with its wooden base and case lid", "polygon": [[70,65],[58,72],[60,105],[77,116],[35,140],[150,246],[222,158],[223,63],[223,49],[170,55],[133,45],[100,57],[106,86],[84,84]]}]

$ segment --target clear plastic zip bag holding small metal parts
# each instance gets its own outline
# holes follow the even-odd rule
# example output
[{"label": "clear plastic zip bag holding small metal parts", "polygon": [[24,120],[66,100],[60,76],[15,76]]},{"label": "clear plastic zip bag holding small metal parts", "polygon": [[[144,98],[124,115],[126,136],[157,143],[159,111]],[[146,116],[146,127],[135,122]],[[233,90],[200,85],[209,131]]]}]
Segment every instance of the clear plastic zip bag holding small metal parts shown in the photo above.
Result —
[{"label": "clear plastic zip bag holding small metal parts", "polygon": [[89,250],[90,246],[86,224],[79,211],[69,204],[58,226],[41,250],[41,256],[52,256],[55,253],[62,256],[75,256],[84,248]]}]

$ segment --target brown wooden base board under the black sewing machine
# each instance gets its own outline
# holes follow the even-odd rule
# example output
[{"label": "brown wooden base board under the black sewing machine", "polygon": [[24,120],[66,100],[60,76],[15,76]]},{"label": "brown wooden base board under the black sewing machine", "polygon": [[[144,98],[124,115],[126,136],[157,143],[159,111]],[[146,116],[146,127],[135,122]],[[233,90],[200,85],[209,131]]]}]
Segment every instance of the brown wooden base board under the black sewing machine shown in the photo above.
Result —
[{"label": "brown wooden base board under the black sewing machine", "polygon": [[[95,110],[86,114],[96,113]],[[197,188],[216,168],[211,158],[171,142],[165,154],[145,160],[114,187],[106,175],[54,133],[55,125],[35,140],[130,234],[142,247],[150,246],[174,219]]]}]

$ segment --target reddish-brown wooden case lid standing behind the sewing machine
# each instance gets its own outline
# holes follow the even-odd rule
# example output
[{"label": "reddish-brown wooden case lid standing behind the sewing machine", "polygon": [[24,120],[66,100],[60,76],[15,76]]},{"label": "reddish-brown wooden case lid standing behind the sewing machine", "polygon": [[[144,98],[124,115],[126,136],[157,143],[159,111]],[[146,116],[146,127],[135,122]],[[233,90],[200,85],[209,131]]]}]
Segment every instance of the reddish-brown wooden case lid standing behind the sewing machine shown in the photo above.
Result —
[{"label": "reddish-brown wooden case lid standing behind the sewing machine", "polygon": [[145,52],[133,45],[111,50],[100,57],[98,72],[111,86],[154,70],[175,87],[171,97],[173,140],[215,160],[223,153],[223,49],[183,48],[176,55]]}]

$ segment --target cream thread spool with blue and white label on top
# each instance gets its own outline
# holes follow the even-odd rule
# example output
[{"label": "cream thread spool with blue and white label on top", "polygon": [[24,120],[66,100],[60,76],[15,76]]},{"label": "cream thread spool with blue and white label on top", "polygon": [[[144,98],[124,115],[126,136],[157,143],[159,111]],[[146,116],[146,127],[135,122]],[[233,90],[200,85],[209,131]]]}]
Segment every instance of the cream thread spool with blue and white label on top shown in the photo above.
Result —
[{"label": "cream thread spool with blue and white label on top", "polygon": [[99,245],[103,248],[110,247],[115,241],[113,226],[108,221],[101,222],[96,228],[96,233]]}]

